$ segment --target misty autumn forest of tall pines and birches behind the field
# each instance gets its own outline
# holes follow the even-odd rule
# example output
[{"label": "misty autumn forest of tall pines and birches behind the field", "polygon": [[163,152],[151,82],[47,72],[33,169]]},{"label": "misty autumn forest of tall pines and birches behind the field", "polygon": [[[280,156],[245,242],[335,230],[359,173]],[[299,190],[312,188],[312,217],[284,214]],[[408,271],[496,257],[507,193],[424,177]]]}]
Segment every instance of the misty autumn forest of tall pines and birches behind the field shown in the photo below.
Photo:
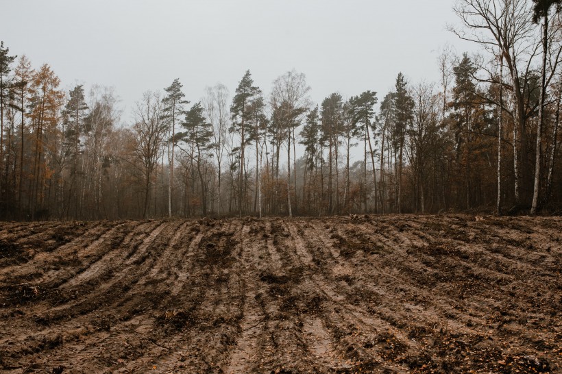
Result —
[{"label": "misty autumn forest of tall pines and birches behind the field", "polygon": [[439,82],[391,72],[390,92],[313,103],[294,69],[198,101],[174,79],[139,92],[130,123],[113,88],[66,92],[1,42],[0,219],[559,214],[560,1],[454,12],[478,53],[442,48]]}]

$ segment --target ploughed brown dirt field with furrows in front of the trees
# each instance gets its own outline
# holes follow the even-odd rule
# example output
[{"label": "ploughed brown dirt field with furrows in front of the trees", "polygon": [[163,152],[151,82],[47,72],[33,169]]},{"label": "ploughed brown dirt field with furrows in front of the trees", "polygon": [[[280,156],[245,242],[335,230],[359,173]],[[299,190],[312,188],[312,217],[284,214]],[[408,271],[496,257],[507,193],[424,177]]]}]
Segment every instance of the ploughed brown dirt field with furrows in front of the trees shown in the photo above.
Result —
[{"label": "ploughed brown dirt field with furrows in front of the trees", "polygon": [[8,373],[559,373],[562,219],[0,223]]}]

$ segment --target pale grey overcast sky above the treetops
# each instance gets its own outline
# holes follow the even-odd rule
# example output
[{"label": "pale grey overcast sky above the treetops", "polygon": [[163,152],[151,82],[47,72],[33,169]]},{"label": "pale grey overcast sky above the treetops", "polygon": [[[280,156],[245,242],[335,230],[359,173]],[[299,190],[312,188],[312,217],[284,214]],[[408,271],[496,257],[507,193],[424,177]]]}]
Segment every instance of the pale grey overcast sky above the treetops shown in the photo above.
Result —
[{"label": "pale grey overcast sky above the treetops", "polygon": [[452,0],[0,1],[10,54],[50,64],[66,90],[113,86],[125,122],[143,92],[176,77],[192,103],[217,82],[232,97],[247,69],[269,95],[293,68],[316,103],[365,90],[380,100],[400,71],[413,84],[437,82],[445,43],[474,49],[446,30]]}]

